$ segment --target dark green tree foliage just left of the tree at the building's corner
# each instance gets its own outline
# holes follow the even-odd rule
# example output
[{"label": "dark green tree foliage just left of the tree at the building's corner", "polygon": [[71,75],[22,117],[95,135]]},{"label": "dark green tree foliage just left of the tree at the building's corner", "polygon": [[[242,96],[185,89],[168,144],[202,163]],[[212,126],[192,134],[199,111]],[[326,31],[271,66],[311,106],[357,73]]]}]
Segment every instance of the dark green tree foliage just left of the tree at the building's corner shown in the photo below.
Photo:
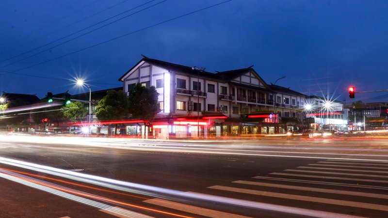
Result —
[{"label": "dark green tree foliage just left of the tree at the building's corner", "polygon": [[121,120],[128,111],[128,97],[122,91],[110,90],[97,105],[98,120]]}]

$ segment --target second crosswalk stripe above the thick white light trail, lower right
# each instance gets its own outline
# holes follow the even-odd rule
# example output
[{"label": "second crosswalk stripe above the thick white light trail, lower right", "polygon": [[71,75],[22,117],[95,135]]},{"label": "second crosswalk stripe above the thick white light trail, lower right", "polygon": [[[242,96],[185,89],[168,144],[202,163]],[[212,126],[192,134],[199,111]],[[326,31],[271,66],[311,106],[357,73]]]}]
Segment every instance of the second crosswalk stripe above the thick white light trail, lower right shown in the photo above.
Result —
[{"label": "second crosswalk stripe above the thick white light trail, lower right", "polygon": [[344,190],[335,190],[335,189],[326,189],[326,188],[279,185],[279,184],[272,184],[272,183],[260,183],[260,182],[243,181],[243,180],[234,181],[233,183],[253,185],[253,186],[263,186],[263,187],[287,188],[287,189],[302,190],[302,191],[315,191],[315,192],[341,194],[341,195],[352,195],[352,196],[361,196],[361,197],[368,197],[368,198],[388,199],[388,195],[358,192],[358,191],[344,191]]}]

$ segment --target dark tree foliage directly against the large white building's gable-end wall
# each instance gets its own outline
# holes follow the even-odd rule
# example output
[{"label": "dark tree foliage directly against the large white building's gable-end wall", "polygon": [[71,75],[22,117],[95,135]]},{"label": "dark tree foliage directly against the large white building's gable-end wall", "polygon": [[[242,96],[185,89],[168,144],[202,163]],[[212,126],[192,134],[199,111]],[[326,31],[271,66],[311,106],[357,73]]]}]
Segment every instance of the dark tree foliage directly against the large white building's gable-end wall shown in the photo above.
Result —
[{"label": "dark tree foliage directly against the large white building's gable-end wall", "polygon": [[137,83],[136,86],[129,91],[129,113],[132,118],[143,120],[152,120],[160,111],[158,104],[158,95],[155,86],[146,88],[142,84]]}]

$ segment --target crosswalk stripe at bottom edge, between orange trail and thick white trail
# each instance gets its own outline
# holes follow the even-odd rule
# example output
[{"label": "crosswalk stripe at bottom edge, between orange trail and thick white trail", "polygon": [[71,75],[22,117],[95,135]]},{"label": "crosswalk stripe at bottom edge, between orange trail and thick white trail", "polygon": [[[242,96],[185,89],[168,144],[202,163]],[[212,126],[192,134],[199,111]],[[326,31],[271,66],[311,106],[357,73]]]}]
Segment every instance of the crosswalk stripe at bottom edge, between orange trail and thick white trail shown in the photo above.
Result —
[{"label": "crosswalk stripe at bottom edge, between orange trail and thick white trail", "polygon": [[245,216],[241,216],[241,215],[237,215],[237,214],[230,214],[230,213],[226,213],[226,212],[210,210],[210,209],[206,209],[206,208],[203,208],[203,207],[191,206],[191,205],[187,205],[187,204],[183,204],[183,203],[178,203],[178,202],[171,202],[171,201],[167,201],[167,200],[159,199],[159,198],[149,199],[149,200],[146,200],[146,201],[143,201],[143,202],[151,203],[151,204],[155,204],[155,205],[159,205],[159,206],[163,206],[163,207],[167,207],[167,208],[171,208],[171,209],[174,209],[174,210],[180,210],[180,211],[184,211],[184,212],[189,212],[189,213],[192,213],[192,214],[196,214],[196,215],[200,215],[200,216],[205,216],[205,217],[212,217],[212,218],[219,218],[219,217],[222,217],[222,218],[249,218],[249,217],[245,217]]}]

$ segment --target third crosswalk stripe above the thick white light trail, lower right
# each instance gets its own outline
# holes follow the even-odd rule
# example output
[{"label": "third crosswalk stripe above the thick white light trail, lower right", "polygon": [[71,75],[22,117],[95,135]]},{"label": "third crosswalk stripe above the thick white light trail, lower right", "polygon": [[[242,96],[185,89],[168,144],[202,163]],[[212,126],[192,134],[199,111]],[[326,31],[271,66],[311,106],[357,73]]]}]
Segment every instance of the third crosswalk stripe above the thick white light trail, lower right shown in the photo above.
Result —
[{"label": "third crosswalk stripe above the thick white light trail, lower right", "polygon": [[275,180],[275,181],[308,183],[308,184],[321,184],[321,185],[330,185],[330,186],[343,186],[343,187],[357,187],[357,188],[388,190],[388,187],[385,187],[385,186],[383,187],[383,186],[368,186],[368,185],[352,185],[352,184],[347,184],[347,183],[323,182],[323,181],[302,180],[302,179],[288,179],[288,178],[268,177],[268,176],[255,176],[252,178],[265,179],[265,180]]}]

